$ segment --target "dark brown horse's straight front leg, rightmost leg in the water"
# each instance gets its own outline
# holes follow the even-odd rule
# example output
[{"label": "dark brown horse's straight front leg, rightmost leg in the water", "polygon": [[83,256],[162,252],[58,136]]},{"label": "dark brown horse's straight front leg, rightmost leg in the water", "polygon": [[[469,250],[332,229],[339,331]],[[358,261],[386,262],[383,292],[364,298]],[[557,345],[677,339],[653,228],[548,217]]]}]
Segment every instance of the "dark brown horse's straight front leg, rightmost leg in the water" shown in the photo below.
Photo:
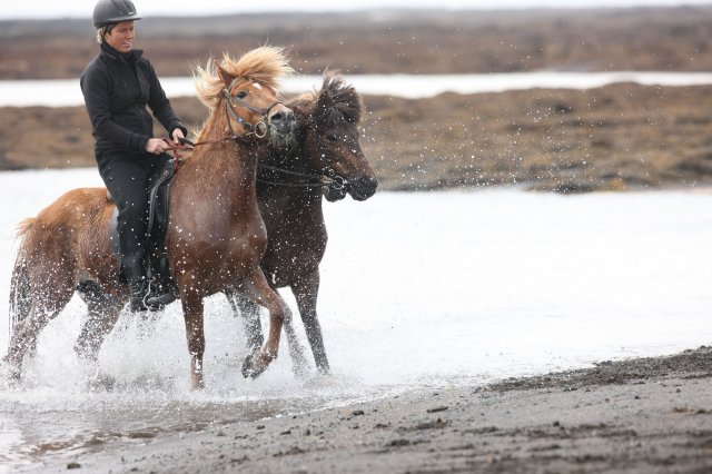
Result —
[{"label": "dark brown horse's straight front leg, rightmost leg in the water", "polygon": [[322,374],[328,374],[329,361],[326,357],[326,348],[324,347],[324,337],[322,336],[322,325],[316,314],[316,299],[319,293],[319,271],[318,269],[310,275],[301,278],[300,282],[291,285],[291,293],[297,300],[299,315],[304,323],[304,330],[307,335],[316,367]]}]

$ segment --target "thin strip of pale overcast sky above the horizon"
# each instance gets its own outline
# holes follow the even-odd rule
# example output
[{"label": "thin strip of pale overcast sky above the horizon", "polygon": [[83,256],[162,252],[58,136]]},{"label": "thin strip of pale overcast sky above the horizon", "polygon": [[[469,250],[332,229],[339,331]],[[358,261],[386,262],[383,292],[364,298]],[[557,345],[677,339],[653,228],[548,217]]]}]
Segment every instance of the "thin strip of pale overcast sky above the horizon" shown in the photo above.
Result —
[{"label": "thin strip of pale overcast sky above the horizon", "polygon": [[[14,18],[89,18],[95,0],[1,0],[0,19]],[[343,11],[375,8],[591,8],[634,6],[712,4],[712,0],[135,0],[144,16],[196,16],[260,11]]]}]

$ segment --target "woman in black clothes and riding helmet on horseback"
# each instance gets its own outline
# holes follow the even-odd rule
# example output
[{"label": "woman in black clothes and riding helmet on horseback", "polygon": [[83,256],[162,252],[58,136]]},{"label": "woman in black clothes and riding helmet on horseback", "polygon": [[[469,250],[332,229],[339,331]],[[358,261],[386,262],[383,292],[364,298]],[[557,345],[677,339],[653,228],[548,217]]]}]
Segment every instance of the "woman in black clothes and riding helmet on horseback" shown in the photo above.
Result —
[{"label": "woman in black clothes and riding helmet on horseback", "polygon": [[140,20],[129,0],[99,0],[93,26],[101,51],[81,75],[81,91],[92,126],[99,174],[116,201],[120,260],[130,289],[132,312],[166,305],[171,293],[149,294],[146,278],[149,177],[170,156],[171,145],[154,138],[154,116],[175,145],[187,135],[178,121],[154,67],[134,46],[134,21]]}]

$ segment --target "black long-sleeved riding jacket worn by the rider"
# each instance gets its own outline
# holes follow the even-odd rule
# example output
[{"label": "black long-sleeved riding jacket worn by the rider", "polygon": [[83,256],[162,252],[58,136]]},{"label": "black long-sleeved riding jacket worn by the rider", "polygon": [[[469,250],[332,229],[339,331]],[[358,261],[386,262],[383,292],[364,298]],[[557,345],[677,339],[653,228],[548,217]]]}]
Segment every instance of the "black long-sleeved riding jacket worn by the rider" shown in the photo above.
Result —
[{"label": "black long-sleeved riding jacket worn by the rider", "polygon": [[87,66],[80,86],[91,120],[95,150],[145,152],[154,136],[154,116],[169,135],[186,128],[178,121],[158,77],[141,50],[120,53],[107,43]]}]

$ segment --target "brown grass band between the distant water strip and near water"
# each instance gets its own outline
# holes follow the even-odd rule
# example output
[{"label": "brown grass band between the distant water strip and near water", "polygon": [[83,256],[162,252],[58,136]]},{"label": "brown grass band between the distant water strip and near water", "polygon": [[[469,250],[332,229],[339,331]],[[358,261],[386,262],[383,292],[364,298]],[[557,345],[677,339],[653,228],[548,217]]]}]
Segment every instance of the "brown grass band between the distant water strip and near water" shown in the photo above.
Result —
[{"label": "brown grass band between the distant water strip and near water", "polygon": [[[362,145],[382,189],[581,192],[712,182],[712,86],[365,99]],[[197,99],[174,106],[191,127],[205,118]],[[2,117],[0,168],[93,166],[83,107],[4,108]]]}]

